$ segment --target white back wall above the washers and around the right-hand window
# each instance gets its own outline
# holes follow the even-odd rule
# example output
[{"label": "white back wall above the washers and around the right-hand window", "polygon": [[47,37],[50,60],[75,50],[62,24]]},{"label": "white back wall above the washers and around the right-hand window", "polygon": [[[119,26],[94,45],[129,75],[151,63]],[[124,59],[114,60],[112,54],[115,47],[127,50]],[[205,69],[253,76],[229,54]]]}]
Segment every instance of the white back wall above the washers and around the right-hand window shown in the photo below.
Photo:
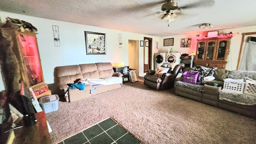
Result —
[{"label": "white back wall above the washers and around the right-hand window", "polygon": [[[228,55],[228,63],[226,65],[226,69],[228,70],[236,70],[236,66],[238,63],[238,56],[240,51],[240,45],[242,42],[242,33],[245,32],[256,32],[256,26],[246,26],[246,27],[240,27],[240,28],[229,28],[229,29],[222,29],[218,30],[219,34],[226,34],[226,33],[236,33],[239,34],[236,36],[233,36],[231,38],[230,42],[230,53]],[[198,32],[198,33],[191,33],[191,34],[182,34],[182,35],[176,35],[176,36],[166,36],[162,37],[162,40],[160,40],[160,45],[162,46],[160,48],[160,52],[167,52],[168,49],[173,48],[174,51],[182,52],[191,54],[192,52],[196,52],[196,44],[197,41],[194,40],[196,38],[196,35],[200,34],[200,37],[207,36],[207,32]],[[174,38],[174,46],[163,46],[164,39],[166,38]],[[182,38],[192,38],[192,43],[190,48],[180,48],[180,40]]]}]

